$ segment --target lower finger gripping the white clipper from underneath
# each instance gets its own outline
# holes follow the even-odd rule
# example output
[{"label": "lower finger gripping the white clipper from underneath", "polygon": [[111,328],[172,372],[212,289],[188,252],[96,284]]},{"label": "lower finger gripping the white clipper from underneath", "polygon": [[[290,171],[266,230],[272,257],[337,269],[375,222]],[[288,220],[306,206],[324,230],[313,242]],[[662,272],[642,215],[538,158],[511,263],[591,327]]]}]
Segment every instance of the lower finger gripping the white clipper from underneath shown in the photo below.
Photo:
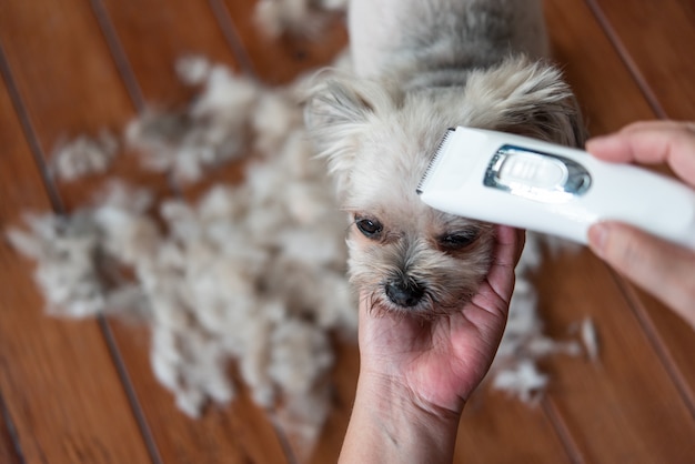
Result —
[{"label": "lower finger gripping the white clipper from underneath", "polygon": [[593,225],[588,241],[600,258],[695,327],[695,252],[616,222]]}]

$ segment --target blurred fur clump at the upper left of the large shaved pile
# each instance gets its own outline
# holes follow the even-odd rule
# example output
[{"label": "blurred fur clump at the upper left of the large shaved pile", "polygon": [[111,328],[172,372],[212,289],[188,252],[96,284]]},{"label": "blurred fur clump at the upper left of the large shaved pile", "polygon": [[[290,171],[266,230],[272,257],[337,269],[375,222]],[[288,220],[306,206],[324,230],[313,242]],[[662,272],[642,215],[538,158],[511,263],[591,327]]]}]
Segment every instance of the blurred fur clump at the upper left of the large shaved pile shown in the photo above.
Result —
[{"label": "blurred fur clump at the upper left of the large shaved pile", "polygon": [[145,169],[171,172],[180,182],[197,182],[207,170],[245,153],[249,118],[260,87],[232,71],[187,57],[177,65],[181,79],[202,92],[180,111],[148,109],[125,130],[125,141],[142,155]]}]

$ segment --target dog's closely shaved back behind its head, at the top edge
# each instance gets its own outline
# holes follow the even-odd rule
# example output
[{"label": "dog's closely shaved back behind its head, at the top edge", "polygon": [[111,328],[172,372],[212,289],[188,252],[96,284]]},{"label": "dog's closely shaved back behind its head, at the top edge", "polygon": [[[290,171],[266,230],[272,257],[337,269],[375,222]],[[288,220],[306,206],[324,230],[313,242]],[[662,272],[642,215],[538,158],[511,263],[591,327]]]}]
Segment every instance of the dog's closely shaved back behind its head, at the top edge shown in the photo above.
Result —
[{"label": "dog's closely shaved back behind its head, at the top edge", "polygon": [[460,82],[461,71],[510,54],[548,54],[535,0],[353,0],[349,14],[354,71],[362,78],[400,73],[405,85],[433,87]]}]

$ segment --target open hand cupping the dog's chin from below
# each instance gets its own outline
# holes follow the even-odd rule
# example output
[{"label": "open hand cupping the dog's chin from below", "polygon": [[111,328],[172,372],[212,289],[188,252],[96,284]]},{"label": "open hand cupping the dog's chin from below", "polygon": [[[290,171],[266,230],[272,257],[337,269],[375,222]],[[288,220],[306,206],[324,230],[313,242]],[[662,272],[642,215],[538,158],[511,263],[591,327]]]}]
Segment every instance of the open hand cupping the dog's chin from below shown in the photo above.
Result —
[{"label": "open hand cupping the dog's chin from below", "polygon": [[[459,312],[432,320],[373,312],[360,299],[360,382],[406,396],[433,415],[457,415],[502,340],[524,231],[497,226],[486,280]],[[366,379],[366,380],[365,380]]]}]

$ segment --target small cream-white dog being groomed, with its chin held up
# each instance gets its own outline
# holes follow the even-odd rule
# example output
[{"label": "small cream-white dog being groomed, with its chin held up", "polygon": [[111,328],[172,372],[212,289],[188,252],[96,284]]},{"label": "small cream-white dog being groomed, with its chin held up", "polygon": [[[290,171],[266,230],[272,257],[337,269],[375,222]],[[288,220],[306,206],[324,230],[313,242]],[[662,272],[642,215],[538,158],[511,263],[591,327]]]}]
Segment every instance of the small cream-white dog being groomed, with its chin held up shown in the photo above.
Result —
[{"label": "small cream-white dog being groomed, with its chin held up", "polygon": [[485,278],[495,229],[417,199],[444,132],[581,147],[581,111],[547,61],[541,1],[353,0],[348,22],[353,73],[318,83],[305,115],[349,213],[350,281],[375,310],[447,313]]}]

